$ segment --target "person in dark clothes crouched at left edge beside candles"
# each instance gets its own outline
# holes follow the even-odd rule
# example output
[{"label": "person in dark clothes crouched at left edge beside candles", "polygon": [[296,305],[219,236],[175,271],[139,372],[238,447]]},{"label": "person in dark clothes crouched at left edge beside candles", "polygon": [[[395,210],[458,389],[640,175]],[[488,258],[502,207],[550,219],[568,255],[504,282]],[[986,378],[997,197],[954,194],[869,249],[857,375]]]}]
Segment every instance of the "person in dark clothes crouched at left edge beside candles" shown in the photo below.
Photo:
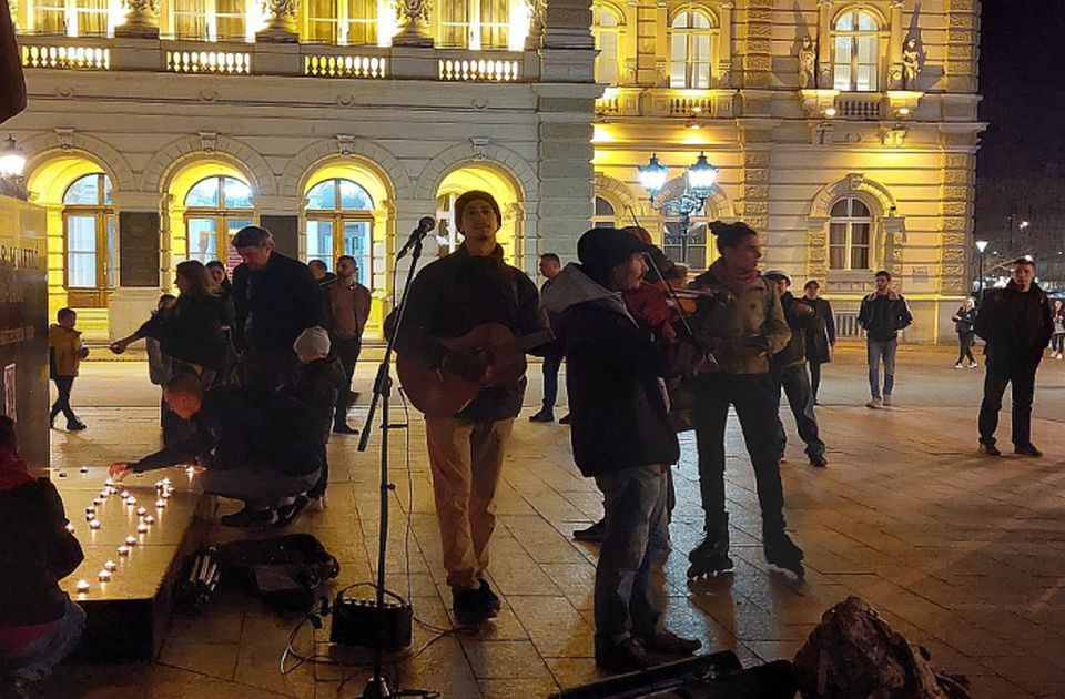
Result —
[{"label": "person in dark clothes crouched at left edge beside candles", "polygon": [[59,588],[84,559],[67,525],[55,486],[30,475],[0,415],[0,693],[48,675],[81,638],[85,614]]}]

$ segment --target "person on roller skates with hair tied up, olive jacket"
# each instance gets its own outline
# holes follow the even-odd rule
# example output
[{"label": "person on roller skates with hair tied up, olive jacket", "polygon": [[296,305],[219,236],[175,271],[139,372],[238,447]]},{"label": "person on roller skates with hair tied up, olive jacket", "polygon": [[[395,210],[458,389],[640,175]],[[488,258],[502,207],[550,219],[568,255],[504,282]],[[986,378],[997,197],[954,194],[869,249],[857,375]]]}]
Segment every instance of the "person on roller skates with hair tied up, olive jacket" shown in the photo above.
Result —
[{"label": "person on roller skates with hair tied up, olive jacket", "polygon": [[[703,292],[688,318],[696,340],[713,352],[720,371],[696,382],[696,443],[706,538],[689,555],[689,577],[732,569],[724,509],[724,428],[729,406],[743,428],[762,510],[765,559],[802,576],[802,549],[784,530],[784,490],[778,457],[779,398],[769,359],[791,338],[777,290],[758,272],[759,234],[746,223],[710,224],[721,256],[692,287]],[[779,394],[778,394],[779,395]]]}]

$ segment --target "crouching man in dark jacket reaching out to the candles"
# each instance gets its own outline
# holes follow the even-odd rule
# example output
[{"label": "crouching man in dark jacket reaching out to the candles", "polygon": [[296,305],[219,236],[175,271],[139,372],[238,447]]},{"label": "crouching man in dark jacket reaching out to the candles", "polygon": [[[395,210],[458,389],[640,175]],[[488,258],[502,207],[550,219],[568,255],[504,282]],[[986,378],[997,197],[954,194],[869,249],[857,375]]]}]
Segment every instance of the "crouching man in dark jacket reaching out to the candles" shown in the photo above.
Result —
[{"label": "crouching man in dark jacket reaching out to the candles", "polygon": [[322,475],[312,409],[272,391],[216,386],[204,393],[192,374],[166,382],[163,395],[193,424],[192,434],[139,462],[112,464],[113,478],[199,460],[206,467],[204,493],[245,503],[222,517],[226,526],[284,526],[302,509],[301,498]]}]

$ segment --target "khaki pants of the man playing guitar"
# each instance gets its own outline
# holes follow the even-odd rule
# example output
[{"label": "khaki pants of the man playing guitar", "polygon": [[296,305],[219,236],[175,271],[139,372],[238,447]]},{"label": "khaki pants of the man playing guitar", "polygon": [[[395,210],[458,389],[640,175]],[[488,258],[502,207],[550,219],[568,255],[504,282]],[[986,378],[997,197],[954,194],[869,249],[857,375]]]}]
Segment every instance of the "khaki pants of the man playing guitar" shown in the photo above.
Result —
[{"label": "khaki pants of the man playing guitar", "polygon": [[433,468],[444,568],[453,589],[474,589],[488,567],[496,528],[496,488],[514,418],[469,423],[456,417],[425,421]]}]

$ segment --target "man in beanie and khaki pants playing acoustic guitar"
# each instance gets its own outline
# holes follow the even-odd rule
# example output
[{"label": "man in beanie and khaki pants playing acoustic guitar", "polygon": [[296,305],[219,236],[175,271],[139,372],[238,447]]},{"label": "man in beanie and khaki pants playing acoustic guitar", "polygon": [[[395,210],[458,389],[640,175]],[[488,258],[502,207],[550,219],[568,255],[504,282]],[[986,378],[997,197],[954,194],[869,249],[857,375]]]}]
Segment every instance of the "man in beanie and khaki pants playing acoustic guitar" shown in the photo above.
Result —
[{"label": "man in beanie and khaki pants playing acoustic guitar", "polygon": [[[396,338],[400,354],[442,371],[448,368],[447,353],[437,337],[460,337],[484,323],[505,325],[518,337],[547,330],[536,285],[504,262],[496,242],[503,214],[491,194],[466,192],[455,203],[455,216],[465,241],[414,278]],[[389,321],[386,328],[395,322]],[[526,383],[523,376],[484,388],[458,414],[425,419],[444,568],[463,622],[499,612],[499,598],[485,579],[488,544],[503,456]]]}]

